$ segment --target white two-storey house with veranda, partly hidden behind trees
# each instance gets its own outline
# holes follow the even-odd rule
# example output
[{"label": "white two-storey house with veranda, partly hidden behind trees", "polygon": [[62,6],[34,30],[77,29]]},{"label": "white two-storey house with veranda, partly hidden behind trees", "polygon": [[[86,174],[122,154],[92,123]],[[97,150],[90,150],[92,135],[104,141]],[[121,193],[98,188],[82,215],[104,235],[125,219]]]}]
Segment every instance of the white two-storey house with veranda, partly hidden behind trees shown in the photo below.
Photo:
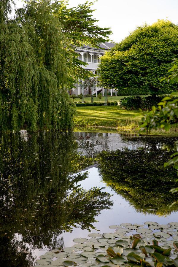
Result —
[{"label": "white two-storey house with veranda, partly hidden behind trees", "polygon": [[[76,50],[75,50],[76,53],[79,54],[78,59],[88,63],[86,66],[82,66],[82,68],[88,71],[92,71],[93,74],[97,74],[98,64],[100,63],[101,56],[103,56],[106,51],[114,47],[115,44],[105,42],[105,43],[100,43],[98,46],[99,47],[94,48],[88,45],[84,45],[83,47],[76,47]],[[76,88],[73,88],[71,90],[70,94],[79,95],[80,93],[82,93],[82,88],[79,83],[75,84],[75,87]],[[101,91],[104,96],[104,88],[96,87],[96,90],[94,90],[93,93],[96,93],[96,96],[97,96],[97,92],[101,92]],[[112,96],[113,90],[111,89],[110,92]],[[85,94],[89,94],[89,93],[90,93],[89,89],[85,91]],[[117,95],[116,91],[115,91],[115,94]]]}]

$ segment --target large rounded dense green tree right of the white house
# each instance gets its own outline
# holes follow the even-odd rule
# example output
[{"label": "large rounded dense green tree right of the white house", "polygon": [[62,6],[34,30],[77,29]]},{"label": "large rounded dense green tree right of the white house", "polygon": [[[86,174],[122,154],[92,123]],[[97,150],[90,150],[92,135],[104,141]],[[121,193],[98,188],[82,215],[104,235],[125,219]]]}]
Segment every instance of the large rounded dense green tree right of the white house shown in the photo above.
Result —
[{"label": "large rounded dense green tree right of the white house", "polygon": [[158,20],[138,27],[101,59],[100,84],[120,95],[165,94],[177,85],[160,80],[178,55],[178,26]]}]

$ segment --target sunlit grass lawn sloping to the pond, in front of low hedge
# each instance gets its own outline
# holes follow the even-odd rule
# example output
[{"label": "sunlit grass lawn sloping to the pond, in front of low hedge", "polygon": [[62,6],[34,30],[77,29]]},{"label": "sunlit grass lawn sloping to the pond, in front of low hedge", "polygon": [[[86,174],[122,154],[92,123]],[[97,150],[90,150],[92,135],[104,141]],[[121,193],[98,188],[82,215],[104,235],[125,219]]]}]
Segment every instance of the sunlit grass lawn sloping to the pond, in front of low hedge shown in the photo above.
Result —
[{"label": "sunlit grass lawn sloping to the pond, in front of low hedge", "polygon": [[119,106],[77,107],[76,126],[102,126],[136,128],[142,113],[137,110],[123,110]]}]

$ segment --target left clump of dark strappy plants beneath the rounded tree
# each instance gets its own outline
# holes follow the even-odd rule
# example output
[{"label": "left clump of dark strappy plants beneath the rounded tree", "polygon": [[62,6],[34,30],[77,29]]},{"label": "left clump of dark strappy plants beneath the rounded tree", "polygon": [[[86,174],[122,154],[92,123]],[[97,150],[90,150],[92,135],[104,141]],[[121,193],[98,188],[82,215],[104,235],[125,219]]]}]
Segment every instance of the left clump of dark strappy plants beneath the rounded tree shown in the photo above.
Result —
[{"label": "left clump of dark strappy plants beneath the rounded tree", "polygon": [[139,109],[141,96],[127,96],[120,100],[120,107],[123,109]]}]

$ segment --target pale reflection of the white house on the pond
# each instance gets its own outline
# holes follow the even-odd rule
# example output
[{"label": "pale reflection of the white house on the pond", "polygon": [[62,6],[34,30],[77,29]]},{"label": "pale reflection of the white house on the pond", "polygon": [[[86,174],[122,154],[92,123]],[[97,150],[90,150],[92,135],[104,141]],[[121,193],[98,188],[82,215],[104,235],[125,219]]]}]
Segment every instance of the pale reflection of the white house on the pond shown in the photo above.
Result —
[{"label": "pale reflection of the white house on the pond", "polygon": [[115,133],[74,133],[76,142],[78,143],[77,152],[81,155],[93,157],[94,154],[100,153],[103,150],[136,150],[143,147],[141,142],[125,141],[120,134]]}]

